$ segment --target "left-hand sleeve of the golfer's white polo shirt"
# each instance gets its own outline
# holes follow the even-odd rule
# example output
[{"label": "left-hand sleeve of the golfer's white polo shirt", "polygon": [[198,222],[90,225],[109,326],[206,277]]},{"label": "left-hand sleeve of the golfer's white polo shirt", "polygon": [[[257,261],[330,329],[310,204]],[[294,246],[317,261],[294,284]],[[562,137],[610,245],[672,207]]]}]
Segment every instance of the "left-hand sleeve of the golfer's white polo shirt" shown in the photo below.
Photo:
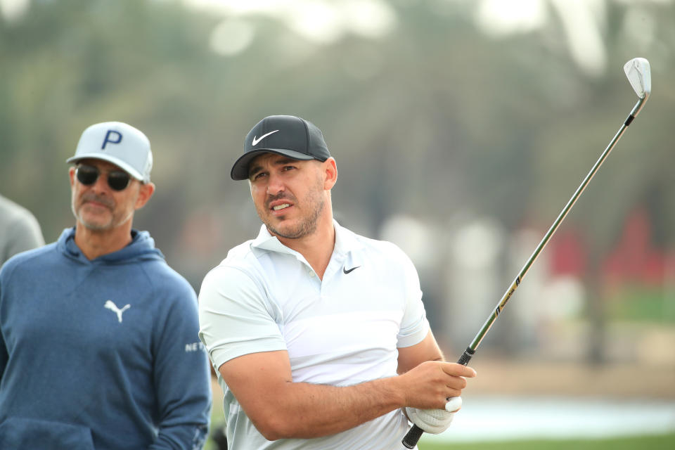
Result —
[{"label": "left-hand sleeve of the golfer's white polo shirt", "polygon": [[285,350],[275,309],[259,283],[244,271],[218,266],[199,293],[199,338],[213,367],[237,356]]}]

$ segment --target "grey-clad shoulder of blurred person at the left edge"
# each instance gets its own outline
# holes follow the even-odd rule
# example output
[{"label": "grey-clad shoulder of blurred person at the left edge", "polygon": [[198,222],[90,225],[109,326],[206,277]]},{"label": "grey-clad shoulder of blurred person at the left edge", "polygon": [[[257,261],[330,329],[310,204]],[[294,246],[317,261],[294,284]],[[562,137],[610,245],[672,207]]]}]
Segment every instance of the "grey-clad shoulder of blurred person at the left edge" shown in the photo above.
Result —
[{"label": "grey-clad shoulder of blurred person at the left edge", "polygon": [[33,214],[0,195],[0,266],[12,255],[41,245],[44,238]]}]

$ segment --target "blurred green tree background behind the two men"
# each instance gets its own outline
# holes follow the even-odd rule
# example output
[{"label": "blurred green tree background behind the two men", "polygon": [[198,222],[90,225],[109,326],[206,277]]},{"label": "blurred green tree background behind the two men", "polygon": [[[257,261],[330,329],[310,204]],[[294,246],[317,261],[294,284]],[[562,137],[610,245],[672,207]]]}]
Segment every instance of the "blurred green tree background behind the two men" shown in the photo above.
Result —
[{"label": "blurred green tree background behind the two men", "polygon": [[[0,0],[0,193],[56,240],[79,134],[133,124],[158,186],[135,226],[199,290],[259,229],[229,178],[243,137],[300,115],[338,161],[338,221],[409,252],[456,352],[630,112],[641,56],[653,96],[484,347],[598,363],[648,335],[672,375],[674,44],[668,0]],[[619,352],[624,322],[646,328]]]}]

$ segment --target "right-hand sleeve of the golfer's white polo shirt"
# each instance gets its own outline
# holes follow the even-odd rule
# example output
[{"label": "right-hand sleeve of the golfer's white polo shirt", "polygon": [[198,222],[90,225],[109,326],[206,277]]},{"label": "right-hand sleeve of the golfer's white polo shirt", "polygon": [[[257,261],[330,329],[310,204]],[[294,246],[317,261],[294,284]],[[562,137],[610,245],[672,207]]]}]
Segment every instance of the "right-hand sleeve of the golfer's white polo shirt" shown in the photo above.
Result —
[{"label": "right-hand sleeve of the golfer's white polo shirt", "polygon": [[401,292],[404,293],[404,314],[401,328],[397,335],[397,347],[411,347],[416,345],[429,333],[429,321],[422,302],[420,278],[410,258],[401,252]]}]

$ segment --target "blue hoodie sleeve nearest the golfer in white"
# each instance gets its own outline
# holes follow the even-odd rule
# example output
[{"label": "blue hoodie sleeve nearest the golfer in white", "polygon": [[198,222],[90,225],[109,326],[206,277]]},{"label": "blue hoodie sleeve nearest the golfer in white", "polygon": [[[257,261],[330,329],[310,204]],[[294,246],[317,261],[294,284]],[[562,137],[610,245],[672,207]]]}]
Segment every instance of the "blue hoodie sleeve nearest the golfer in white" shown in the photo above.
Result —
[{"label": "blue hoodie sleeve nearest the golfer in white", "polygon": [[[184,281],[181,278],[181,281]],[[187,281],[164,290],[170,304],[155,326],[159,434],[151,450],[203,448],[211,411],[210,366],[198,339],[197,297]]]}]

